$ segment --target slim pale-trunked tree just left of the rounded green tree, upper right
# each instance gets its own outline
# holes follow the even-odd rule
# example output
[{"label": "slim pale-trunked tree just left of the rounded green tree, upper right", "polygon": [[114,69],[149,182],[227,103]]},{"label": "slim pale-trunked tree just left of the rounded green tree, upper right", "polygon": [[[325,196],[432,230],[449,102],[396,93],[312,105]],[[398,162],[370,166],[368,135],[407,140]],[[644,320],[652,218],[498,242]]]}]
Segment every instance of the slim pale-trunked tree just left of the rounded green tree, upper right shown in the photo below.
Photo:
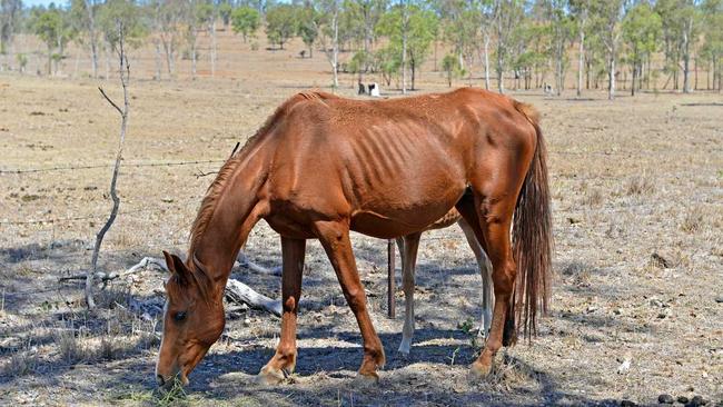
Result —
[{"label": "slim pale-trunked tree just left of the rounded green tree, upper right", "polygon": [[621,37],[623,0],[595,1],[591,9],[593,26],[607,52],[607,99],[615,99],[615,69]]}]

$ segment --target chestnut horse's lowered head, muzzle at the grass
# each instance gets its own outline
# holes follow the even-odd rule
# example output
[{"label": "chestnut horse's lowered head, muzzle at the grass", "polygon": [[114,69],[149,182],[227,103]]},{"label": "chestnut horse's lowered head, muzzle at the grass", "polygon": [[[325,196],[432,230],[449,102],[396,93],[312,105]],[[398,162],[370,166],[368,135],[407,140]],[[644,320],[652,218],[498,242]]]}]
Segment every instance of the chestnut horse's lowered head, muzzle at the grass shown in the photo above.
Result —
[{"label": "chestnut horse's lowered head, muzzle at the grass", "polygon": [[166,251],[164,256],[170,277],[156,377],[159,386],[172,383],[177,375],[187,385],[188,375],[224,331],[224,305],[196,259],[189,268],[178,256]]}]

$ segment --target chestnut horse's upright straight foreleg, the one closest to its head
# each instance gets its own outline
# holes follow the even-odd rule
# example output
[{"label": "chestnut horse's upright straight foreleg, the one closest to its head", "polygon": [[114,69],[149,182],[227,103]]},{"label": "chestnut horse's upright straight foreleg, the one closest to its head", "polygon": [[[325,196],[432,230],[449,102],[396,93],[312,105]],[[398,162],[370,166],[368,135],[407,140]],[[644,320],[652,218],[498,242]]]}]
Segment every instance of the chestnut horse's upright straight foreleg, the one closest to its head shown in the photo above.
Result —
[{"label": "chestnut horse's upright straight foreleg, the one closest to its head", "polygon": [[281,238],[283,277],[281,277],[281,338],[276,354],[261,368],[259,378],[274,384],[290,375],[296,367],[296,317],[301,299],[301,274],[306,240]]}]

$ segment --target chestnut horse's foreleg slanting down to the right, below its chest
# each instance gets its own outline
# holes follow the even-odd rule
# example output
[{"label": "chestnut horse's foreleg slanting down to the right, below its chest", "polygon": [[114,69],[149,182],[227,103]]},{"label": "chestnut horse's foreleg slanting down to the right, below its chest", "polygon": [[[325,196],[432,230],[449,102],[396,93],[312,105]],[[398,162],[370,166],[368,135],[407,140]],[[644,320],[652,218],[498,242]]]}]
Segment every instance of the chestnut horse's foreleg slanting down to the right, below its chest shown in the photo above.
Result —
[{"label": "chestnut horse's foreleg slanting down to the right, below its chest", "polygon": [[359,375],[364,378],[378,380],[377,368],[385,364],[384,347],[379,336],[374,330],[372,318],[367,311],[366,294],[359,280],[351,241],[349,240],[349,226],[348,224],[334,221],[318,221],[314,226],[316,235],[321,246],[324,246],[331,266],[334,266],[344,297],[349,304],[349,308],[351,308],[361,331],[364,360],[359,368]]}]

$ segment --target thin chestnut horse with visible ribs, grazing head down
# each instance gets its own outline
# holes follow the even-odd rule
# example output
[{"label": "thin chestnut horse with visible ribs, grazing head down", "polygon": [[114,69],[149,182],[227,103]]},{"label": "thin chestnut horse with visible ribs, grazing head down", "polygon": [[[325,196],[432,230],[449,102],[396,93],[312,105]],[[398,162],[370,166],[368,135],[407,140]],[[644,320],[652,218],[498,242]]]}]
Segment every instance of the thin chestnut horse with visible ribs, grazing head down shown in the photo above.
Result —
[{"label": "thin chestnut horse with visible ribs, grazing head down", "polygon": [[165,254],[171,277],[159,381],[179,374],[187,383],[221,335],[224,287],[259,219],[281,236],[284,307],[280,341],[260,378],[276,383],[294,370],[306,239],[317,238],[361,331],[360,377],[377,379],[384,349],[349,230],[407,236],[453,207],[493,265],[492,328],[472,365],[474,374],[486,375],[503,339],[509,344],[515,328],[534,332],[537,308],[547,304],[551,215],[537,122],[531,107],[471,88],[375,101],[305,92],[284,102],[209,187],[187,261]]}]

